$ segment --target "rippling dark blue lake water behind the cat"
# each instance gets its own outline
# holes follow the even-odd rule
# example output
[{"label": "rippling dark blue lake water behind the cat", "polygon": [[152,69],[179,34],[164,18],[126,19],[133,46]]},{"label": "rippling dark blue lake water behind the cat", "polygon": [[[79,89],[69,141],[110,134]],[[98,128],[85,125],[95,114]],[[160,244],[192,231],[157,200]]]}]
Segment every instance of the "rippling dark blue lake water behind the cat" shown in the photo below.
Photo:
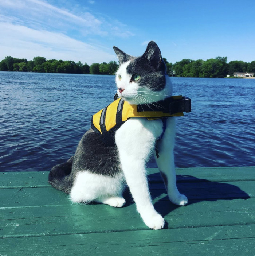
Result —
[{"label": "rippling dark blue lake water behind the cat", "polygon": [[[74,155],[114,79],[0,72],[0,171],[48,171]],[[176,117],[176,167],[255,166],[255,80],[171,79],[173,94],[192,99]]]}]

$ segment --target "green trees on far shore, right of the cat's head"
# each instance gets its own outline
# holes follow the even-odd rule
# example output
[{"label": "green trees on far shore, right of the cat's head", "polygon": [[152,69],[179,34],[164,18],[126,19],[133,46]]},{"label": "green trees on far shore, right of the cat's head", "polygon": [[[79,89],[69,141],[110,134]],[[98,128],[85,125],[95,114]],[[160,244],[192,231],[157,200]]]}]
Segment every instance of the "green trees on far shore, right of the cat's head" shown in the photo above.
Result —
[{"label": "green trees on far shore, right of the cat's head", "polygon": [[[164,58],[163,58],[164,59]],[[178,77],[218,77],[223,78],[227,75],[233,76],[234,72],[255,73],[255,61],[230,61],[227,63],[227,57],[216,57],[203,61],[198,59],[183,59],[176,63],[169,63],[164,59],[169,75]]]}]

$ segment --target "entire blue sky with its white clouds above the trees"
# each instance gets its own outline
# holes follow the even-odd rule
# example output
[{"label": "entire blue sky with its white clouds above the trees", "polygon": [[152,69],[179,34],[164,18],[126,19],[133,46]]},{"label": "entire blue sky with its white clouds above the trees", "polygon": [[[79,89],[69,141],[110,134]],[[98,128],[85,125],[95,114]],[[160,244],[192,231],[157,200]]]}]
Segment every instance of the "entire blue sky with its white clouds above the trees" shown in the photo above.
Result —
[{"label": "entire blue sky with its white clouds above the trees", "polygon": [[0,0],[5,56],[75,62],[116,60],[112,46],[141,55],[154,40],[163,57],[255,60],[254,0]]}]

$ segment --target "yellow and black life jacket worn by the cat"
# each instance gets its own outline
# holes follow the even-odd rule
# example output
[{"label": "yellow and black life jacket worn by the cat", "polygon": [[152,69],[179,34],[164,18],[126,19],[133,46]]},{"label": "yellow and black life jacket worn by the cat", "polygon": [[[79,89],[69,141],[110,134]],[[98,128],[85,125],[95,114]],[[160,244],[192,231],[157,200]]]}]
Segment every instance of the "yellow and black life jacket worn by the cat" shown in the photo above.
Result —
[{"label": "yellow and black life jacket worn by the cat", "polygon": [[191,100],[181,95],[142,105],[132,105],[118,98],[92,116],[91,128],[101,134],[109,146],[115,146],[115,132],[129,118],[165,119],[170,116],[183,116],[183,112],[191,112]]}]

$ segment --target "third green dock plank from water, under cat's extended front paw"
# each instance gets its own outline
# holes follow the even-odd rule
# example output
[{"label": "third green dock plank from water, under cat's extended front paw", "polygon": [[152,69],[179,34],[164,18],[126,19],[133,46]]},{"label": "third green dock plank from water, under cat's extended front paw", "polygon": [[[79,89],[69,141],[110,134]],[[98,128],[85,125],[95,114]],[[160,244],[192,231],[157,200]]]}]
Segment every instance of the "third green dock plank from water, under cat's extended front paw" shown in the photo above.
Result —
[{"label": "third green dock plank from water, under cat's extended front paw", "polygon": [[[165,228],[192,228],[253,224],[255,199],[203,201],[184,207],[156,202]],[[134,204],[124,208],[107,205],[70,205],[1,209],[0,237],[49,236],[148,230]]]}]

